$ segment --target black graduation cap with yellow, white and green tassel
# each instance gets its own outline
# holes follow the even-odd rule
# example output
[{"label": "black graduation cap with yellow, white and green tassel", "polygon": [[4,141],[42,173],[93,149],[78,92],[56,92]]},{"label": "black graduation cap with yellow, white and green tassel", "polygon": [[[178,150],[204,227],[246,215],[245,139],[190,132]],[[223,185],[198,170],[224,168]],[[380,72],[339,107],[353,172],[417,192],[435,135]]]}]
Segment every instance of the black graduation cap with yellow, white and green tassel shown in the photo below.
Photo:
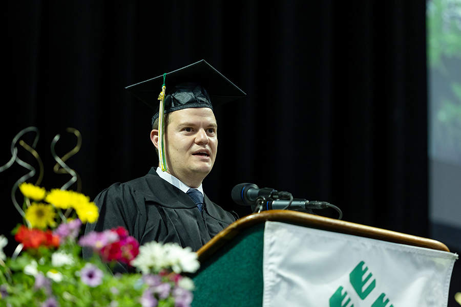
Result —
[{"label": "black graduation cap with yellow, white and green tassel", "polygon": [[[190,107],[213,109],[213,105],[233,101],[246,95],[205,60],[130,85],[126,89],[155,110],[152,124],[159,118],[159,159],[163,171],[166,170],[163,149],[164,114]],[[162,90],[160,95],[159,89]]]}]

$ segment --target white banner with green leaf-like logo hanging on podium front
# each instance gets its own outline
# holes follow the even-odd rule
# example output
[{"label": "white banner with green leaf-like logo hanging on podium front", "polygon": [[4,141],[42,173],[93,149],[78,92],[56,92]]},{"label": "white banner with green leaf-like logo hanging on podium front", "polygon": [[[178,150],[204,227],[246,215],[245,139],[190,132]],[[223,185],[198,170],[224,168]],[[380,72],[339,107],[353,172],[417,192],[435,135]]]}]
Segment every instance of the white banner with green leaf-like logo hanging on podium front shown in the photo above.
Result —
[{"label": "white banner with green leaf-like logo hanging on podium front", "polygon": [[457,255],[266,222],[263,307],[446,307]]}]

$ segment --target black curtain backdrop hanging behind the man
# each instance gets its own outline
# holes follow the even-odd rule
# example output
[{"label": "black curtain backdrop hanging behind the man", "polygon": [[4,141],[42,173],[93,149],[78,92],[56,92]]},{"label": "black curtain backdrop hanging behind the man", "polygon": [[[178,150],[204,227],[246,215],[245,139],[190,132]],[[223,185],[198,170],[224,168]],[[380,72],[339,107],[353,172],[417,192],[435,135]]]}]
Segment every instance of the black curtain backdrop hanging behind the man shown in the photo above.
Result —
[{"label": "black curtain backdrop hanging behind the man", "polygon": [[[213,201],[250,213],[230,197],[250,182],[427,237],[425,10],[417,0],[8,2],[0,165],[36,126],[41,185],[60,187],[70,177],[52,171],[49,147],[60,134],[58,155],[72,149],[73,127],[83,143],[67,163],[83,193],[143,176],[157,165],[152,112],[124,87],[205,59],[247,93],[215,110],[218,158],[203,183]],[[0,173],[2,233],[21,222],[9,194],[25,173]]]}]

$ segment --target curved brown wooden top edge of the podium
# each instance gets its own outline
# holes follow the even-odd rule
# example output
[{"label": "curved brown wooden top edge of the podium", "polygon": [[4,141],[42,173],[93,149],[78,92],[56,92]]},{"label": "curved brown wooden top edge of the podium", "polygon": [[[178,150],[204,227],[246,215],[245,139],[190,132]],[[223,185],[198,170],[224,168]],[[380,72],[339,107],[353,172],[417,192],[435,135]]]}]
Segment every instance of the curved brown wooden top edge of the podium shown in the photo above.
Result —
[{"label": "curved brown wooden top edge of the podium", "polygon": [[209,240],[202,248],[197,251],[199,261],[203,263],[209,256],[219,248],[232,240],[243,230],[265,223],[266,221],[286,222],[310,228],[322,229],[327,231],[340,232],[345,234],[357,235],[372,239],[383,240],[392,243],[400,243],[417,247],[424,247],[439,251],[449,252],[448,247],[436,240],[404,234],[400,232],[375,228],[340,220],[308,214],[292,210],[268,210],[260,213],[253,213],[229,225],[215,237]]}]

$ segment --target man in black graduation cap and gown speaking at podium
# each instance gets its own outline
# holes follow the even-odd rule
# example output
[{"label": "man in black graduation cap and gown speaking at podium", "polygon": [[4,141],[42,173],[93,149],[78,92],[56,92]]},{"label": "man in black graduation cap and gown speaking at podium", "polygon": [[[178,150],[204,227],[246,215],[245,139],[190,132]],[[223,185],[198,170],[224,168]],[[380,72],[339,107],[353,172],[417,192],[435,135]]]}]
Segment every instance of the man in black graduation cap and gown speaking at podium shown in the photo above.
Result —
[{"label": "man in black graduation cap and gown speaking at podium", "polygon": [[[151,141],[159,166],[144,177],[115,183],[99,193],[95,199],[99,218],[87,225],[86,233],[122,226],[141,245],[155,240],[197,251],[236,220],[207,198],[202,181],[217,154],[213,105],[245,93],[204,60],[127,89],[156,109]],[[162,98],[164,116],[159,112]],[[91,250],[83,249],[83,256],[90,257]]]}]

